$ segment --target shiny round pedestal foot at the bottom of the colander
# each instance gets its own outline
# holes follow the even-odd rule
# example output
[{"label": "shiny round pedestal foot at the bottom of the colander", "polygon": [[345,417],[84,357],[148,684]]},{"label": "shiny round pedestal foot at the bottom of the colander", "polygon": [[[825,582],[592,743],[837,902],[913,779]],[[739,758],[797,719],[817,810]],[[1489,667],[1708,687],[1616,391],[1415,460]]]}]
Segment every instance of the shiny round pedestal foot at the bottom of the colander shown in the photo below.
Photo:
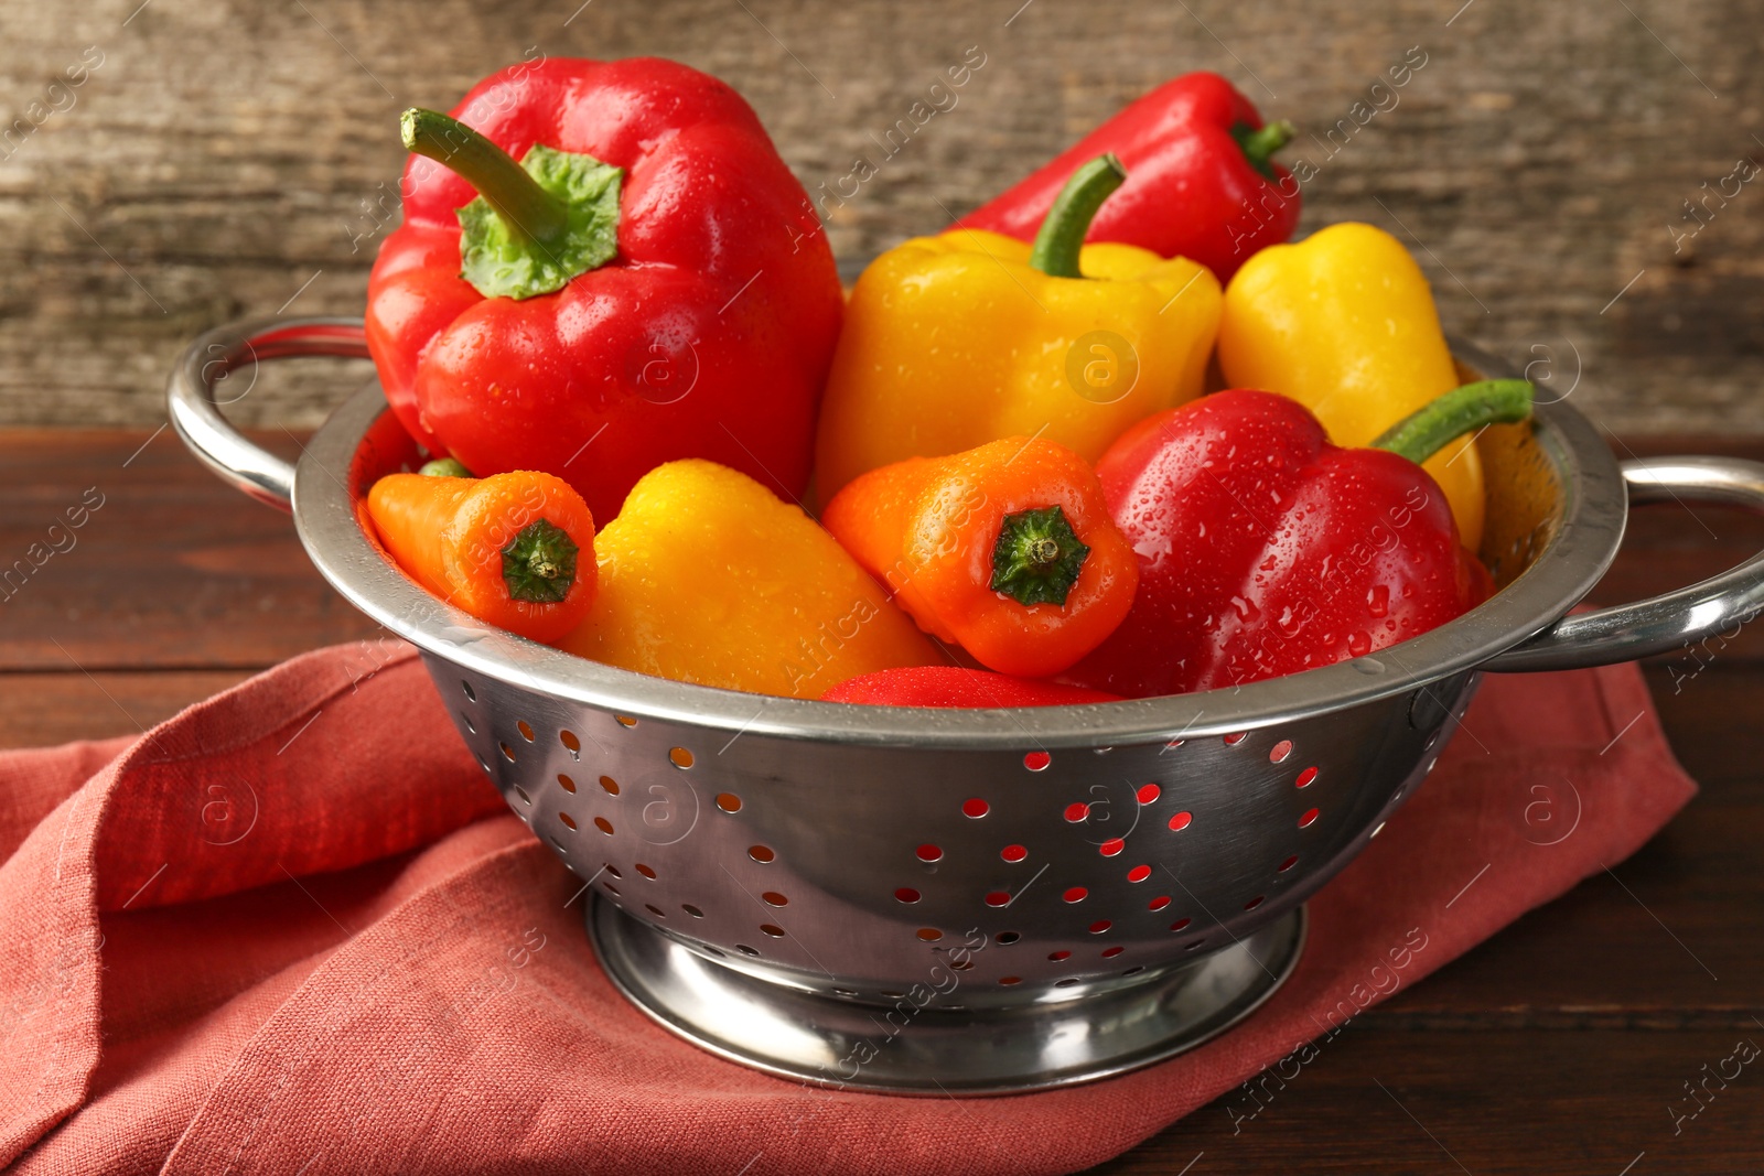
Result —
[{"label": "shiny round pedestal foot at the bottom of the colander", "polygon": [[1293,910],[1222,950],[1073,996],[949,1007],[956,989],[910,1016],[718,964],[598,897],[587,927],[639,1009],[730,1061],[852,1090],[986,1095],[1122,1074],[1215,1037],[1291,975],[1305,915]]}]

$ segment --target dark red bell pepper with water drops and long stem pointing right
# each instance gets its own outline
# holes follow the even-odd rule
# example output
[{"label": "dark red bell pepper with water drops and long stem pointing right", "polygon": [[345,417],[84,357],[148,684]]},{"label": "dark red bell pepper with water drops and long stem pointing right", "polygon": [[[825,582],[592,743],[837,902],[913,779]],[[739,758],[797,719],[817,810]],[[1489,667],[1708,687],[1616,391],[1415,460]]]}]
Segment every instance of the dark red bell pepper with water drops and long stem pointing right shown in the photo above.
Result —
[{"label": "dark red bell pepper with water drops and long stem pointing right", "polygon": [[1297,400],[1219,391],[1140,421],[1097,462],[1140,557],[1132,612],[1060,675],[1132,698],[1242,686],[1360,658],[1482,603],[1418,462],[1491,421],[1524,420],[1531,384],[1466,384],[1376,448],[1328,443]]}]

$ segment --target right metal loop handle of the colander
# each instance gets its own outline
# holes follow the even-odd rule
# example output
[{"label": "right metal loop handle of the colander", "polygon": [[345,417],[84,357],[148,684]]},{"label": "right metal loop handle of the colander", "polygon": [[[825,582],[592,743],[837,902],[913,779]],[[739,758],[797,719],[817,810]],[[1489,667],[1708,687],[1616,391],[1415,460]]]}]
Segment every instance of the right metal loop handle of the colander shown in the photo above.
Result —
[{"label": "right metal loop handle of the colander", "polygon": [[[1723,457],[1656,457],[1623,462],[1630,504],[1720,502],[1764,513],[1764,464]],[[1484,670],[1579,670],[1734,636],[1764,612],[1764,552],[1702,584],[1633,605],[1563,617]],[[1732,629],[1732,631],[1730,631]]]}]

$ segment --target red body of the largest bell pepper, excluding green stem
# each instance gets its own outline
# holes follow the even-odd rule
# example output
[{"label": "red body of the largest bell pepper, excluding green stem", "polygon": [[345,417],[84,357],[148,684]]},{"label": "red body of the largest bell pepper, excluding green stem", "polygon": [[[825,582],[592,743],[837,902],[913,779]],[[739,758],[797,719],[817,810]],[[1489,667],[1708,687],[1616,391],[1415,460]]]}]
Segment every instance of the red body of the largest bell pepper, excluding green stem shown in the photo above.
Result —
[{"label": "red body of the largest bell pepper, excluding green stem", "polygon": [[616,254],[557,293],[489,298],[460,277],[457,212],[478,192],[413,155],[367,301],[411,435],[478,474],[556,474],[596,518],[683,457],[801,495],[841,294],[753,109],[676,62],[549,58],[482,81],[453,113],[513,159],[542,145],[621,167]]}]

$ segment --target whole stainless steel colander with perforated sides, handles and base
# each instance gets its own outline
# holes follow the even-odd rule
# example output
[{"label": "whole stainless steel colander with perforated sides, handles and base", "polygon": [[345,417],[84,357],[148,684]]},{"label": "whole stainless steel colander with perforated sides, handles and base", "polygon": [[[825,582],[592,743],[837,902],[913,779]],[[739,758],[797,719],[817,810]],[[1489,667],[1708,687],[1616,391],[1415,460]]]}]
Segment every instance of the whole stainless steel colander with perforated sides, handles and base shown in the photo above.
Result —
[{"label": "whole stainless steel colander with perforated sides, handles and base", "polygon": [[[609,975],[700,1046],[896,1093],[1117,1074],[1221,1031],[1289,973],[1302,901],[1425,778],[1485,670],[1621,661],[1764,607],[1764,557],[1572,619],[1626,497],[1764,510],[1764,467],[1619,467],[1565,404],[1487,430],[1484,559],[1501,591],[1374,656],[1230,691],[930,711],[646,677],[448,608],[379,552],[360,499],[418,460],[377,386],[289,467],[220,418],[215,381],[363,356],[349,319],[245,323],[171,377],[178,434],[291,508],[319,571],[422,649],[510,808],[593,890]],[[1459,349],[1466,377],[1505,365]],[[813,628],[813,626],[810,626]]]}]

